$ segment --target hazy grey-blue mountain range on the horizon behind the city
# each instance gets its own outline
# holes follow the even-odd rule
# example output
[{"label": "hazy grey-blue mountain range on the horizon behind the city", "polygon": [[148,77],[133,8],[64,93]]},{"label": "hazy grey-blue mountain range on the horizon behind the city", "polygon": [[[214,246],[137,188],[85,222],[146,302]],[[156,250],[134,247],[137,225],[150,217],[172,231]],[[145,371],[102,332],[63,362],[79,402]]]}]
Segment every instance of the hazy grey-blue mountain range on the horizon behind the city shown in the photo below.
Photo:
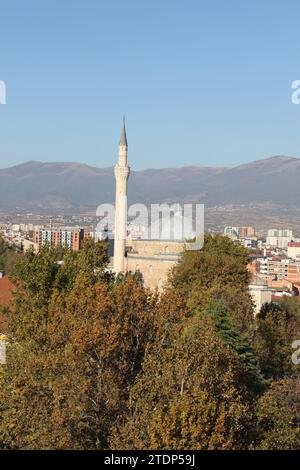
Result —
[{"label": "hazy grey-blue mountain range on the horizon behind the city", "polygon": [[[184,167],[131,171],[129,203],[230,204],[300,202],[300,159],[272,157],[235,168]],[[0,169],[0,210],[74,212],[113,203],[113,168],[29,161]]]}]

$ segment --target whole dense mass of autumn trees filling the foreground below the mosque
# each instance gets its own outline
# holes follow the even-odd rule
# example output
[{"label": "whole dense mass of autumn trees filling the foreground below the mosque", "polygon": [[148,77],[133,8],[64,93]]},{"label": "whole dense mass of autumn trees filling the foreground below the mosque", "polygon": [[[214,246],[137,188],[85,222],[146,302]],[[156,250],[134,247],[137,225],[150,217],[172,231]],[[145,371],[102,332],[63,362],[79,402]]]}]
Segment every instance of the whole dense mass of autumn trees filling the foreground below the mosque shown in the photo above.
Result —
[{"label": "whole dense mass of autumn trees filling the foreground below the mosque", "polygon": [[300,448],[300,306],[283,298],[255,319],[247,262],[244,248],[206,236],[158,294],[138,276],[115,278],[105,242],[24,254],[0,446]]}]

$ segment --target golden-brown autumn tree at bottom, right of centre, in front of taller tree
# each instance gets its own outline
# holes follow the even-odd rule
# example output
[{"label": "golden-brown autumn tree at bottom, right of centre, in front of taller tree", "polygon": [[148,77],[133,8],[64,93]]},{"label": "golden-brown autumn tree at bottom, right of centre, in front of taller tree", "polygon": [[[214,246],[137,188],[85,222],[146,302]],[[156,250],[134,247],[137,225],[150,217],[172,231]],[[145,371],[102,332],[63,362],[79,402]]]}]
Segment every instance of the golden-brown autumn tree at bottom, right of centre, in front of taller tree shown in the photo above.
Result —
[{"label": "golden-brown autumn tree at bottom, right of centre, in front of taller tree", "polygon": [[211,318],[193,316],[156,339],[134,383],[114,449],[239,449],[252,440],[250,401]]}]

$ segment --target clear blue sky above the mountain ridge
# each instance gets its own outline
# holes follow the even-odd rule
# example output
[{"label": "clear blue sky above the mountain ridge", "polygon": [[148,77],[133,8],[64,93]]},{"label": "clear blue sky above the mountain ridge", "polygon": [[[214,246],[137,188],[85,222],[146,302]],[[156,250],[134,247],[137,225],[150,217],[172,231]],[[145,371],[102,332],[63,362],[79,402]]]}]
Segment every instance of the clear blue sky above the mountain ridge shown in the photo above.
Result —
[{"label": "clear blue sky above the mountain ridge", "polygon": [[0,3],[0,166],[300,157],[298,0]]}]

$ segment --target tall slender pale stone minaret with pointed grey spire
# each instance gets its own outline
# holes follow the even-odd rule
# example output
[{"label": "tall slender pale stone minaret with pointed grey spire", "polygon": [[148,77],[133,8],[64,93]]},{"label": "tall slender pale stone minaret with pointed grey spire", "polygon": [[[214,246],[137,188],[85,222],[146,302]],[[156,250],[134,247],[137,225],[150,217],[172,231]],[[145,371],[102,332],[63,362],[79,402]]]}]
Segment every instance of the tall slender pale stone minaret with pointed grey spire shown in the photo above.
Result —
[{"label": "tall slender pale stone minaret with pointed grey spire", "polygon": [[125,241],[127,230],[127,181],[130,168],[127,165],[127,136],[125,118],[119,143],[119,161],[115,166],[116,203],[115,203],[115,243],[114,243],[114,271],[116,274],[124,272]]}]

